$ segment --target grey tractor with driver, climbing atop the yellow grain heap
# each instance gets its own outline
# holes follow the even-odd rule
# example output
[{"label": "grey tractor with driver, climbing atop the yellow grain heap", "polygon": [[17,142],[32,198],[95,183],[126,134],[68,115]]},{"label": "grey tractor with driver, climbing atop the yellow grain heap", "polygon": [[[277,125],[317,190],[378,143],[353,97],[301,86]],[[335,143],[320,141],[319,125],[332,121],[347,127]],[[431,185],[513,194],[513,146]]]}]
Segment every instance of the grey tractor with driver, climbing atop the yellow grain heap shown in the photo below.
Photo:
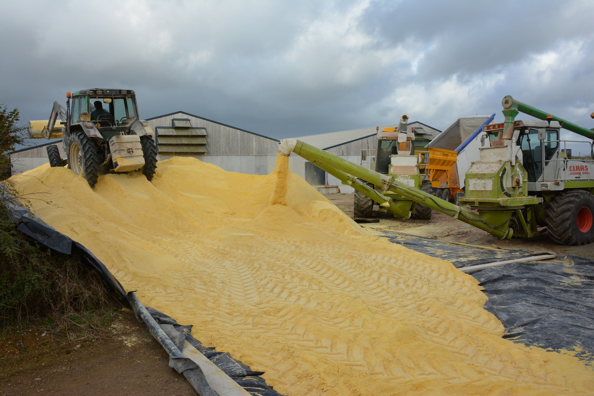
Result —
[{"label": "grey tractor with driver, climbing atop the yellow grain heap", "polygon": [[[153,130],[138,115],[132,90],[91,88],[66,94],[66,108],[55,101],[42,133],[30,138],[62,138],[67,159],[58,146],[47,146],[51,167],[68,168],[84,177],[93,188],[99,171],[141,171],[152,180],[157,168]],[[105,107],[105,108],[104,108]],[[56,125],[58,118],[61,120]]]}]

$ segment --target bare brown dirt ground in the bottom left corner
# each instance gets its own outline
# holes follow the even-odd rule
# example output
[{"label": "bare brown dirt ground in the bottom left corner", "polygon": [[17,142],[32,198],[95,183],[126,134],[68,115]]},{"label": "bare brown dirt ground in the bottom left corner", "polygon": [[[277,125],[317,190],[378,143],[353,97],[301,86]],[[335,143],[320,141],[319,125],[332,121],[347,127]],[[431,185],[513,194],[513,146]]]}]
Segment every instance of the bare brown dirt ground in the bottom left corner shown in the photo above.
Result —
[{"label": "bare brown dirt ground in the bottom left corner", "polygon": [[99,337],[0,336],[0,395],[196,395],[165,350],[124,308]]}]

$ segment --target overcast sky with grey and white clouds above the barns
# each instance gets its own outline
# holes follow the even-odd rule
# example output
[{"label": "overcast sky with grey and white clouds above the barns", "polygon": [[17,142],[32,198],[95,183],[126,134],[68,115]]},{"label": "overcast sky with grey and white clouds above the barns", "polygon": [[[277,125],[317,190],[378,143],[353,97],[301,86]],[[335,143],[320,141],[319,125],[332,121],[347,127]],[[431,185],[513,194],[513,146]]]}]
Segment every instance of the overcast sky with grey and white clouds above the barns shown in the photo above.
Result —
[{"label": "overcast sky with grey and white clouds above the barns", "polygon": [[[501,99],[594,127],[594,1],[0,0],[0,103],[23,124],[85,88],[135,90],[272,138],[410,120],[443,130]],[[518,117],[521,118],[521,117]],[[525,118],[528,118],[525,116]]]}]

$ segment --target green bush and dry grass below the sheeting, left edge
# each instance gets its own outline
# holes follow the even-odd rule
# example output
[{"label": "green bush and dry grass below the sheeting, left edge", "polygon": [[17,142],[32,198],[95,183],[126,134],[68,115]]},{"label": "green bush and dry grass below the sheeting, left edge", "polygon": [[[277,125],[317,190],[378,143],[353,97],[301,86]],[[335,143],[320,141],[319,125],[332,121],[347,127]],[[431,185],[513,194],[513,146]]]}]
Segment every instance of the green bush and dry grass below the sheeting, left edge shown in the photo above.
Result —
[{"label": "green bush and dry grass below the sheeting, left edge", "polygon": [[81,325],[93,321],[88,311],[121,306],[116,293],[81,262],[77,251],[58,253],[17,231],[5,206],[6,196],[3,201],[0,194],[2,328],[22,327],[30,321]]}]

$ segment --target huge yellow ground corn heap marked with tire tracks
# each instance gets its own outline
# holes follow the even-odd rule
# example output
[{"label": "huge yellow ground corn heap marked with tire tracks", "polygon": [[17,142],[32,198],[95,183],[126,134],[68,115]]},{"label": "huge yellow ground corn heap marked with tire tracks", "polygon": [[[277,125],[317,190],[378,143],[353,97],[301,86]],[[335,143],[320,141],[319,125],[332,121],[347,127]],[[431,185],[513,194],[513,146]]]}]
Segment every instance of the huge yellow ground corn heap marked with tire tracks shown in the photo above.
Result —
[{"label": "huge yellow ground corn heap marked with tire tracks", "polygon": [[[279,156],[268,176],[192,158],[99,178],[12,178],[125,289],[301,395],[591,394],[576,357],[501,338],[475,279],[372,237]],[[43,199],[52,201],[47,205]]]}]

